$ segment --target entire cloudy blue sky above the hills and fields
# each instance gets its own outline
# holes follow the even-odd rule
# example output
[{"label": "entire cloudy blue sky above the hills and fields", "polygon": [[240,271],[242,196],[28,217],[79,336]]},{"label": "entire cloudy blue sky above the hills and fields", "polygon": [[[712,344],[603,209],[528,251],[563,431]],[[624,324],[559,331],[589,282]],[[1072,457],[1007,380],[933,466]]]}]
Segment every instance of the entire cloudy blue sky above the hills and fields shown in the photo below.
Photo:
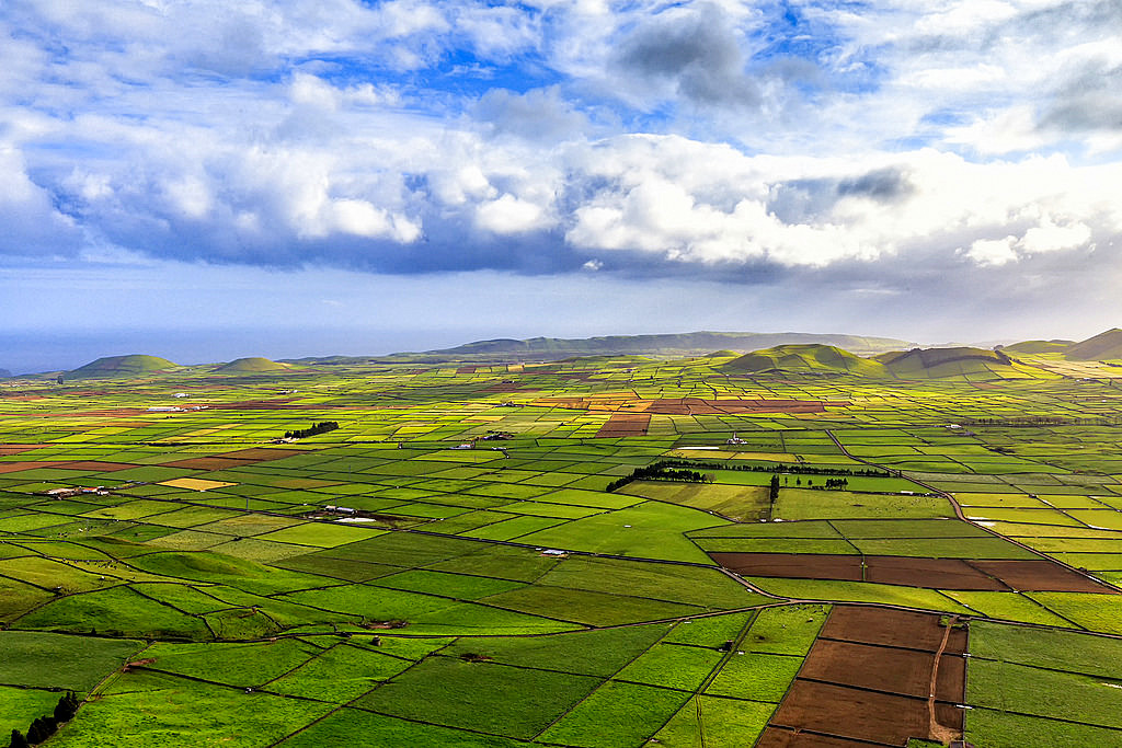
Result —
[{"label": "entire cloudy blue sky above the hills and fields", "polygon": [[6,0],[0,368],[1122,320],[1122,0]]}]

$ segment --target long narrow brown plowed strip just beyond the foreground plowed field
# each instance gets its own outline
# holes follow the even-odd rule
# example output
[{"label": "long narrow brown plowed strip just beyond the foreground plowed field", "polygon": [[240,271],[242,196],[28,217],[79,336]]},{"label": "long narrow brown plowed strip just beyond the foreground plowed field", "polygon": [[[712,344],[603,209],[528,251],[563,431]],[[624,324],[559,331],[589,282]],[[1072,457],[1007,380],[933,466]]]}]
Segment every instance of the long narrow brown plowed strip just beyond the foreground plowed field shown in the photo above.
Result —
[{"label": "long narrow brown plowed strip just beyond the foreground plowed field", "polygon": [[781,579],[822,579],[880,582],[932,590],[980,592],[1105,592],[1098,584],[1065,566],[1046,561],[977,561],[862,556],[808,553],[710,553],[714,561],[737,574]]}]

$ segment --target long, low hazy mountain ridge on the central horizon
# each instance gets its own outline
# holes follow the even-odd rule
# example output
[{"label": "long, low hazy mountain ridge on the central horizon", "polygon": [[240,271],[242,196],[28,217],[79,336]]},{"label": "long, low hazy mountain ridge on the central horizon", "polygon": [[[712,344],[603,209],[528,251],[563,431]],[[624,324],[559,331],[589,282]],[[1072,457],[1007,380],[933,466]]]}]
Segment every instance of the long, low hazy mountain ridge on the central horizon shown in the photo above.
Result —
[{"label": "long, low hazy mountain ridge on the central horizon", "polygon": [[689,332],[657,335],[607,335],[603,338],[531,338],[528,340],[480,340],[456,348],[425,351],[417,357],[447,357],[450,359],[564,359],[574,355],[610,355],[645,353],[660,355],[706,355],[715,350],[743,353],[764,348],[790,344],[835,345],[858,353],[881,353],[910,348],[913,343],[890,338],[813,333],[756,333],[756,332]]}]

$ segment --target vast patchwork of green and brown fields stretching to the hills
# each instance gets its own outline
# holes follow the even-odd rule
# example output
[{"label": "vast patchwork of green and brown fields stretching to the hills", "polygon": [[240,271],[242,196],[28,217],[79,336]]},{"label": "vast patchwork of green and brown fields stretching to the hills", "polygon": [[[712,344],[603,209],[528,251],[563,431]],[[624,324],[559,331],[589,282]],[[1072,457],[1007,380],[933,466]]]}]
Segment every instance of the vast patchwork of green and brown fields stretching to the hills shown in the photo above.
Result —
[{"label": "vast patchwork of green and brown fields stretching to the hills", "polygon": [[953,350],[0,380],[0,728],[1122,746],[1118,369]]}]

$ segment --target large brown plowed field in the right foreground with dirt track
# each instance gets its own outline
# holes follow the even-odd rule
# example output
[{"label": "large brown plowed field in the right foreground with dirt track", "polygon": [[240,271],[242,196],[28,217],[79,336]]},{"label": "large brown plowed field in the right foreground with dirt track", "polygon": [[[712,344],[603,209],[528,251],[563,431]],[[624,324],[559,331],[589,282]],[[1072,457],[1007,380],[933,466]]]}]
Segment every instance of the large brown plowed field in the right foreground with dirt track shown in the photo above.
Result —
[{"label": "large brown plowed field in the right foreground with dirt track", "polygon": [[[847,748],[962,735],[966,630],[940,616],[835,606],[758,746]],[[929,691],[938,658],[935,724]],[[804,731],[819,735],[807,735]]]}]

